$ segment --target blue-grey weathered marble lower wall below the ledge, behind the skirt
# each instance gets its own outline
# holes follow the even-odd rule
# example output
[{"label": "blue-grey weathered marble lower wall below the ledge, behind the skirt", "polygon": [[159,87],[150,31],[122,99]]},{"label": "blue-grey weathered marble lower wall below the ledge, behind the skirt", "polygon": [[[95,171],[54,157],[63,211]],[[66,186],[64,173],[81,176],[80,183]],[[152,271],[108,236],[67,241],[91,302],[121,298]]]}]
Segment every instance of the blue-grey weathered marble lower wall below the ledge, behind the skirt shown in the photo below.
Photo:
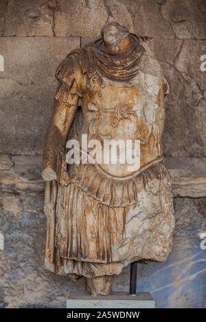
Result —
[{"label": "blue-grey weathered marble lower wall below the ledge, behind the skirt", "polygon": [[[1,196],[4,199],[6,195]],[[1,206],[0,303],[3,308],[65,308],[69,290],[85,290],[84,278],[72,282],[43,267],[45,215],[42,193],[17,193],[18,212]],[[205,250],[199,234],[205,231],[206,201],[175,198],[174,247],[163,263],[138,264],[137,289],[150,291],[158,308],[201,308],[205,304]],[[13,210],[12,210],[13,211]],[[129,267],[115,276],[113,290],[128,290]]]}]

